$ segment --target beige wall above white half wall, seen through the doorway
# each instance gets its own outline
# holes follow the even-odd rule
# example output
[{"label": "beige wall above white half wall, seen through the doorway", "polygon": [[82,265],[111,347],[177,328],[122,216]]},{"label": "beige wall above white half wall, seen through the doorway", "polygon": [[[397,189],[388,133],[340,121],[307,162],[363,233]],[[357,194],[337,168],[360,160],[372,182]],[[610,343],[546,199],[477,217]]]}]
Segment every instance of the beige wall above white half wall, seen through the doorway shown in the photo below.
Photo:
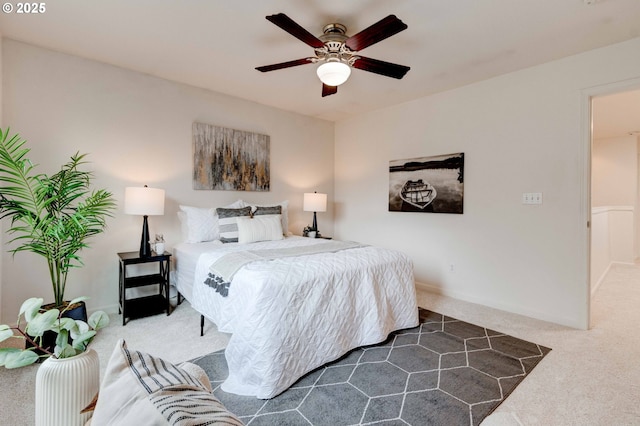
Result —
[{"label": "beige wall above white half wall, seen through the doorway", "polygon": [[591,205],[635,205],[638,185],[637,138],[595,139],[591,154]]}]

